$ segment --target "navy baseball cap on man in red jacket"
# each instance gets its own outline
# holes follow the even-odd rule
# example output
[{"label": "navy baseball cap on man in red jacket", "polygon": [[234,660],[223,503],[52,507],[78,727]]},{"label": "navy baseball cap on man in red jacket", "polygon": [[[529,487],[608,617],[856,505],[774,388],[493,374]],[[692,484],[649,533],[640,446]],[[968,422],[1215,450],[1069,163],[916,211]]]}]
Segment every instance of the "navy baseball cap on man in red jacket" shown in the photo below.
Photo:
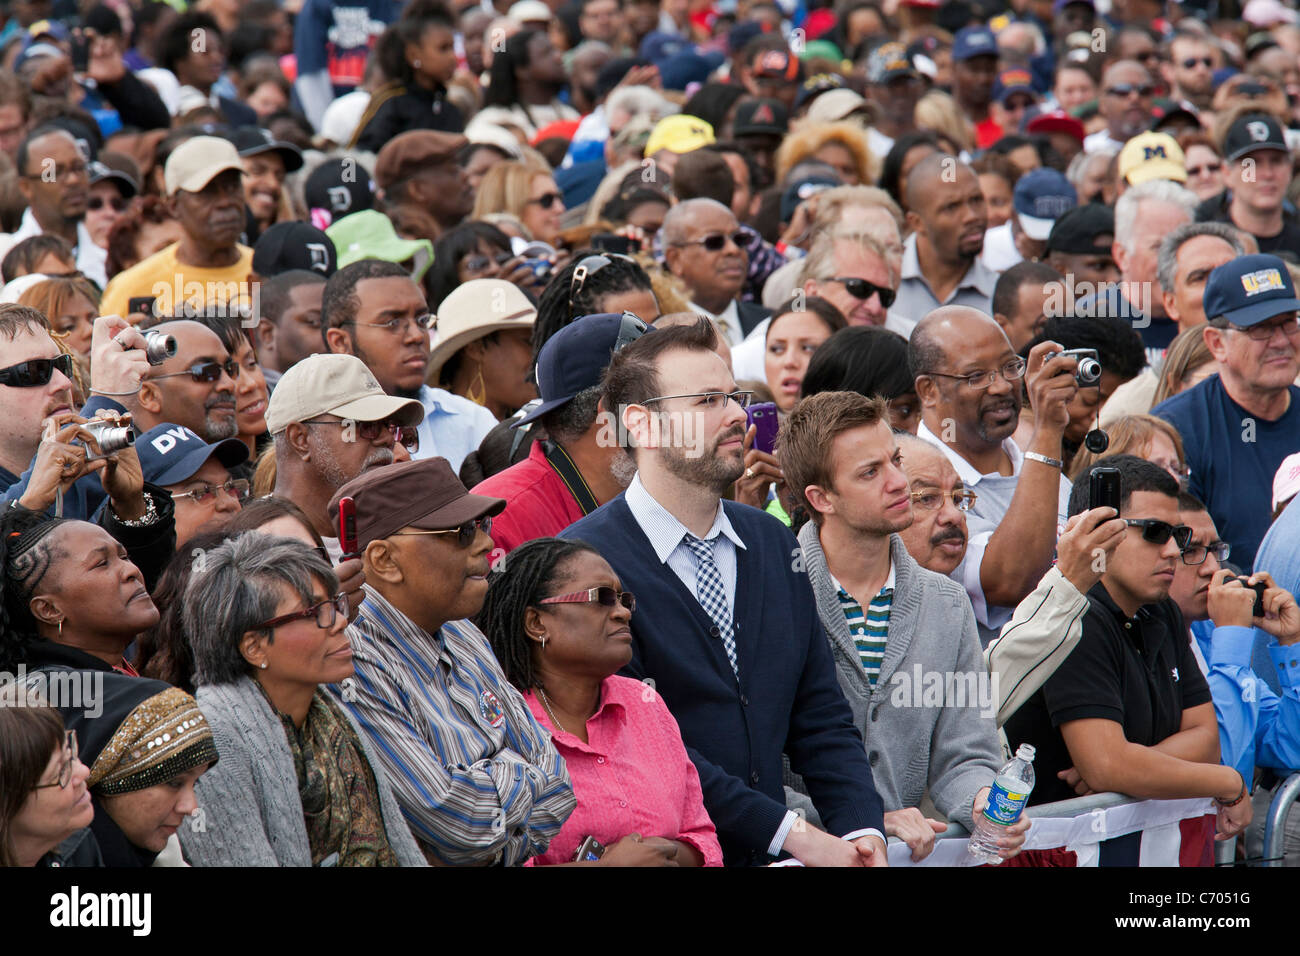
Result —
[{"label": "navy baseball cap on man in red jacket", "polygon": [[614,352],[654,329],[630,312],[601,312],[575,319],[551,336],[537,355],[537,393],[542,403],[512,427],[520,428],[594,389]]}]

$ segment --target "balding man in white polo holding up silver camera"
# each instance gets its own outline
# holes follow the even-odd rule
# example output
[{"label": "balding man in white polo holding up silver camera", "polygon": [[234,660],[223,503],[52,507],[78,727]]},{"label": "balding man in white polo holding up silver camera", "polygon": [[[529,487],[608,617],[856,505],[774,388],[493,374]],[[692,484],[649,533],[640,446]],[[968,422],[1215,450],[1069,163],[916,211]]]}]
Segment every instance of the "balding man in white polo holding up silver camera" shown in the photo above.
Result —
[{"label": "balding man in white polo holding up silver camera", "polygon": [[[907,343],[922,403],[916,434],[936,445],[975,492],[966,557],[953,571],[970,594],[987,644],[1052,563],[1070,483],[1061,450],[1070,424],[1075,360],[1043,342],[1026,363],[1002,328],[963,306],[935,310]],[[1028,451],[1011,441],[1028,380],[1035,431]]]}]

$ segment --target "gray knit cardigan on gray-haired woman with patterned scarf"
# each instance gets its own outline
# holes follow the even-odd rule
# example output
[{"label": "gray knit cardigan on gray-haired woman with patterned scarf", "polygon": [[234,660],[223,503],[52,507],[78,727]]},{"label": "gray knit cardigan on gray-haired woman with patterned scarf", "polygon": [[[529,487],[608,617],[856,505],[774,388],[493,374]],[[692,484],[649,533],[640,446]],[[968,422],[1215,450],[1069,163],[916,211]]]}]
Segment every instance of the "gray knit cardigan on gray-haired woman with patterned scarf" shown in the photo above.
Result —
[{"label": "gray knit cardigan on gray-haired woman with patterned scarf", "polygon": [[[195,788],[202,814],[179,830],[190,862],[311,866],[294,757],[285,727],[261,691],[251,678],[240,678],[233,684],[200,687],[195,698],[212,727],[220,760]],[[384,765],[355,722],[352,728],[380,788],[380,810],[393,852],[403,866],[426,866],[389,788]]]}]

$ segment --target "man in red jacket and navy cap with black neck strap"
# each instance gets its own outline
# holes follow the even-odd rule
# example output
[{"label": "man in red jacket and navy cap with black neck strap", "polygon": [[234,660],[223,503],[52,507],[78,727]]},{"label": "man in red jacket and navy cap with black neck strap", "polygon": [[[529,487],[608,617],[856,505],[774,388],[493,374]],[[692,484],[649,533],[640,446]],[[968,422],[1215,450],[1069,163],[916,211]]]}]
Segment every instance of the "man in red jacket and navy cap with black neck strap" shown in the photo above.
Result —
[{"label": "man in red jacket and navy cap with black neck strap", "polygon": [[515,423],[541,420],[546,438],[528,458],[474,486],[506,501],[497,515],[494,555],[525,541],[552,537],[627,489],[636,464],[611,432],[601,405],[601,377],[610,358],[649,329],[630,312],[588,315],[556,332],[537,356],[542,403]]}]

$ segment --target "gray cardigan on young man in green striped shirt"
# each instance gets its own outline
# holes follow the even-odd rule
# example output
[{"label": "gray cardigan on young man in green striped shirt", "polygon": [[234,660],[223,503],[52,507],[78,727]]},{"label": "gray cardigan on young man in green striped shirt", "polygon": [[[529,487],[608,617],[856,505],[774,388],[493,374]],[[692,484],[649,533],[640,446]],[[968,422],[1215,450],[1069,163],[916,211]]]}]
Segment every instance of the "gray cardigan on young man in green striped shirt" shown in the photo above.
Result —
[{"label": "gray cardigan on young man in green striped shirt", "polygon": [[[849,635],[816,525],[809,522],[798,537],[818,614],[831,641],[836,676],[866,741],[885,810],[918,806],[928,788],[935,808],[968,829],[975,793],[991,784],[1002,766],[998,698],[993,695],[988,715],[982,715],[979,695],[966,693],[975,684],[970,678],[961,695],[965,706],[952,705],[958,698],[956,691],[944,695],[952,700],[942,706],[935,705],[933,696],[924,695],[927,682],[936,680],[930,674],[945,682],[939,687],[956,687],[946,679],[949,674],[988,674],[966,591],[952,579],[920,567],[898,535],[889,537],[894,596],[885,657],[872,688]],[[855,597],[870,601],[874,596]],[[915,687],[918,667],[920,687]],[[976,685],[983,685],[987,695],[987,676],[979,680],[983,683]],[[933,685],[931,691],[933,695]],[[802,780],[788,773],[786,784],[789,805],[809,813],[811,804],[802,796]]]}]

